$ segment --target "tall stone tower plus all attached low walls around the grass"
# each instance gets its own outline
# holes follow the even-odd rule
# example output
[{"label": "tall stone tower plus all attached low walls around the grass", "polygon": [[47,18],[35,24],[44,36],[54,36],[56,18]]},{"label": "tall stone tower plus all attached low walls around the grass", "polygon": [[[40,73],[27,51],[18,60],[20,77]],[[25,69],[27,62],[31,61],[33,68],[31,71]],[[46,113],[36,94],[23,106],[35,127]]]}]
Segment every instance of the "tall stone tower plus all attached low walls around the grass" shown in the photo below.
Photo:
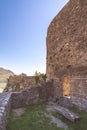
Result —
[{"label": "tall stone tower plus all attached low walls around the grass", "polygon": [[[47,82],[0,94],[0,130],[13,108],[57,100],[87,110],[87,0],[70,0],[48,27]],[[67,98],[66,98],[67,97]]]}]

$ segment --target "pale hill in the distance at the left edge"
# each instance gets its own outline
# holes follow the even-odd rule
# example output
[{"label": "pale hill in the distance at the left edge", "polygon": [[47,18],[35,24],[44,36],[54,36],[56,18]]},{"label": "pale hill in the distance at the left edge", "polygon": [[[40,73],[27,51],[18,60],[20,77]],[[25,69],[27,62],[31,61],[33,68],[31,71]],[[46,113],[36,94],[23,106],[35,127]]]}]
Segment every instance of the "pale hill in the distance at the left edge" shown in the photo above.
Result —
[{"label": "pale hill in the distance at the left edge", "polygon": [[14,73],[10,70],[4,69],[0,67],[0,92],[3,92],[7,85],[7,79],[10,75],[14,75]]}]

